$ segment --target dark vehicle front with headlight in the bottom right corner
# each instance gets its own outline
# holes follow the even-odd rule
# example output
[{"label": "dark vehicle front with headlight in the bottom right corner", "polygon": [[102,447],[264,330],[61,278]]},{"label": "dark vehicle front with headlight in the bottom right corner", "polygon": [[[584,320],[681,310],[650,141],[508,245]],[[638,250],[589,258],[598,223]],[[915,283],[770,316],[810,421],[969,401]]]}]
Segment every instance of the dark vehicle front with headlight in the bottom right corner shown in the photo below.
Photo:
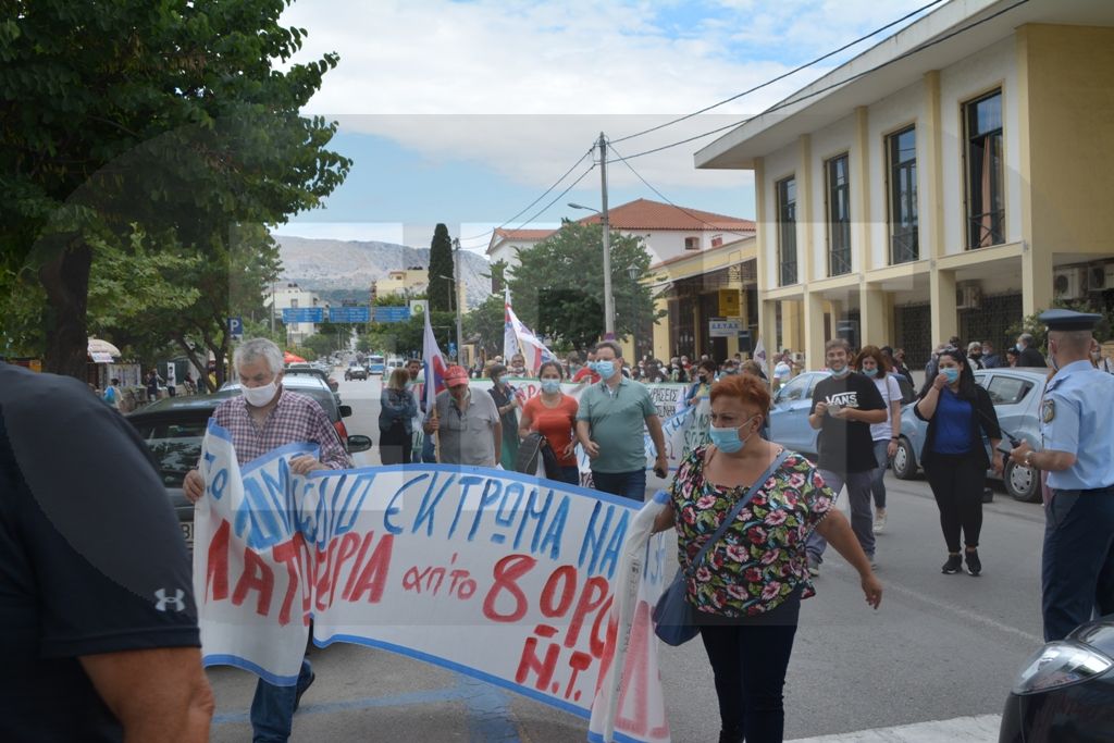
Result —
[{"label": "dark vehicle front with headlight in the bottom right corner", "polygon": [[998,743],[1037,741],[1114,741],[1114,615],[1046,644],[1022,666]]}]

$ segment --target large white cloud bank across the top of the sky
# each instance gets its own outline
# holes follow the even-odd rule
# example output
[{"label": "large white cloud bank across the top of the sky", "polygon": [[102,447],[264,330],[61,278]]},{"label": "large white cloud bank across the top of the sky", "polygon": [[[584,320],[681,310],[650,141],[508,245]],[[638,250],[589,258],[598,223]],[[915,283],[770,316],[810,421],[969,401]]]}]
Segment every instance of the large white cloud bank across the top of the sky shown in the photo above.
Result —
[{"label": "large white cloud bank across the top of the sky", "polygon": [[[544,188],[600,130],[617,139],[722,100],[919,4],[893,0],[879,19],[877,0],[721,0],[706,17],[688,3],[639,0],[297,0],[283,21],[309,30],[296,60],[341,56],[307,113]],[[616,147],[633,155],[739,120],[825,69]],[[749,174],[695,170],[693,153],[711,140],[632,165],[667,196],[750,183]],[[609,175],[636,180],[618,164]]]}]

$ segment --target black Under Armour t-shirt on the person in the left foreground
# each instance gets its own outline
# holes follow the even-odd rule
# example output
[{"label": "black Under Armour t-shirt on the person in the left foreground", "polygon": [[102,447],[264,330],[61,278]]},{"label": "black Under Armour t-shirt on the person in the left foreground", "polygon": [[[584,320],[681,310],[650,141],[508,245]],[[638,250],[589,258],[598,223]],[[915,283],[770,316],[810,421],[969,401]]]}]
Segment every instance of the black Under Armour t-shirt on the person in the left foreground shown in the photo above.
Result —
[{"label": "black Under Armour t-shirt on the person in the left foreground", "polygon": [[81,382],[0,363],[0,741],[120,741],[78,657],[199,644],[143,441]]}]

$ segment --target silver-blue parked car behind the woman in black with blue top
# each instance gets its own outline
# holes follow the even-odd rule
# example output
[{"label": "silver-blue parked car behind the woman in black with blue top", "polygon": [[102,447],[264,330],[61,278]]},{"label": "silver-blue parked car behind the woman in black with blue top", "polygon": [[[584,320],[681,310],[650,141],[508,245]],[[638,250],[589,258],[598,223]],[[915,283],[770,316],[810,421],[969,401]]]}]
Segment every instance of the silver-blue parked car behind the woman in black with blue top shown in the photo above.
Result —
[{"label": "silver-blue parked car behind the woman in black with blue top", "polygon": [[[995,413],[1003,429],[1003,440],[1008,443],[1013,434],[1019,441],[1028,441],[1034,449],[1040,448],[1040,397],[1044,394],[1046,371],[1038,369],[981,369],[975,372],[975,381],[986,388],[994,401]],[[901,434],[898,451],[893,456],[893,473],[908,480],[920,469],[920,452],[925,446],[928,424],[917,418],[912,405],[901,411]],[[1008,432],[1008,433],[1007,433]],[[989,441],[985,442],[989,452]],[[1001,452],[990,452],[1001,457]],[[987,470],[987,477],[994,477]],[[1006,460],[1003,483],[1016,500],[1037,502],[1040,500],[1039,472],[1023,465]]]}]

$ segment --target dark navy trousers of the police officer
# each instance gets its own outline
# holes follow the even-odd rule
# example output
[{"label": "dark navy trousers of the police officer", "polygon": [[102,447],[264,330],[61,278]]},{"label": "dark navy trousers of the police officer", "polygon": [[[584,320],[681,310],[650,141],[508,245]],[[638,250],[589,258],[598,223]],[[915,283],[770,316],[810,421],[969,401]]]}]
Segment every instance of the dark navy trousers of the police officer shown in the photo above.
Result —
[{"label": "dark navy trousers of the police officer", "polygon": [[1045,510],[1040,583],[1046,641],[1114,612],[1114,488],[1056,491]]}]

